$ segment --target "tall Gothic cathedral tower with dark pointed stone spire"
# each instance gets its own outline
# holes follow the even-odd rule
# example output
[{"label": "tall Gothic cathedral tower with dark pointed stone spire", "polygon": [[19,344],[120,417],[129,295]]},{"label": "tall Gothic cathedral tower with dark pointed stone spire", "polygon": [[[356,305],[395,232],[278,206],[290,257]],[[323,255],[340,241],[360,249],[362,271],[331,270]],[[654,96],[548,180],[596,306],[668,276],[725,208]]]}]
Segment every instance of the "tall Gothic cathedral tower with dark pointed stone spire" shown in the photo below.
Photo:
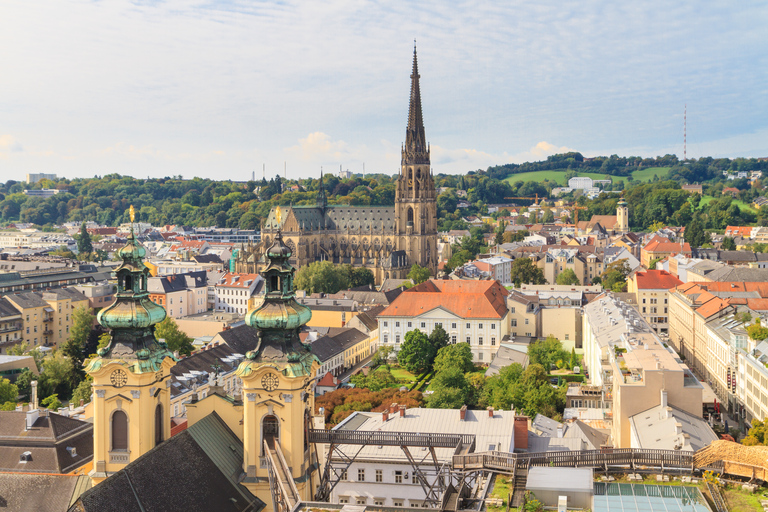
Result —
[{"label": "tall Gothic cathedral tower with dark pointed stone spire", "polygon": [[411,100],[408,127],[402,148],[400,176],[395,189],[396,235],[398,249],[437,275],[437,192],[432,178],[430,147],[424,134],[419,89],[419,66],[413,48]]}]

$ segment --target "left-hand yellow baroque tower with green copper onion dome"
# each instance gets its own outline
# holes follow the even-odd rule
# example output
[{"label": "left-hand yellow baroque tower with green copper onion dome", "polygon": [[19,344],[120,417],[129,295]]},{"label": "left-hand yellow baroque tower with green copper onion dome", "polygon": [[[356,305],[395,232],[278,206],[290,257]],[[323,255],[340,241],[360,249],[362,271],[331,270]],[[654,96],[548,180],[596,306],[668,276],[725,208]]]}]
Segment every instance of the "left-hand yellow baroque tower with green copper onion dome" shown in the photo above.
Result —
[{"label": "left-hand yellow baroque tower with green copper onion dome", "polygon": [[149,300],[146,250],[133,229],[118,255],[123,262],[115,270],[116,300],[96,317],[111,331],[109,345],[85,368],[93,377],[93,485],[171,435],[170,369],[176,359],[155,339],[155,325],[166,313]]}]

